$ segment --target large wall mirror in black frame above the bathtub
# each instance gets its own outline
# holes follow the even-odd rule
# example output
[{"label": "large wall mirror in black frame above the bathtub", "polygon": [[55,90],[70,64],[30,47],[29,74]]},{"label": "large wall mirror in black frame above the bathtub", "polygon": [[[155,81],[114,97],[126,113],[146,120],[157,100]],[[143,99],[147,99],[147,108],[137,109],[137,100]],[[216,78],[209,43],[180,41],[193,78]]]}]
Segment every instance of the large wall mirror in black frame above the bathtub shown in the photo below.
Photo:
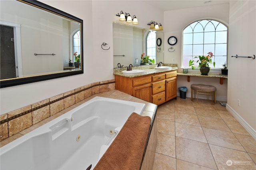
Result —
[{"label": "large wall mirror in black frame above the bathtub", "polygon": [[84,72],[83,20],[36,0],[0,3],[1,88]]}]

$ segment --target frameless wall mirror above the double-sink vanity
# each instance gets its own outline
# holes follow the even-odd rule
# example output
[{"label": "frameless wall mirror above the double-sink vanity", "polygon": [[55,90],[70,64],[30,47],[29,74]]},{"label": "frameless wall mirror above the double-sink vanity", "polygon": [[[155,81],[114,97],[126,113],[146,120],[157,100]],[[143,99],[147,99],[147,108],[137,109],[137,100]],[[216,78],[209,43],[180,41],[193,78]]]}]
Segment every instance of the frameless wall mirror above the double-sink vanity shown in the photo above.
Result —
[{"label": "frameless wall mirror above the double-sink vanity", "polygon": [[[158,43],[158,46],[156,41],[159,38],[162,43]],[[114,68],[125,67],[130,64],[139,66],[142,53],[149,55],[150,59],[155,59],[155,64],[164,63],[164,33],[114,22]]]}]

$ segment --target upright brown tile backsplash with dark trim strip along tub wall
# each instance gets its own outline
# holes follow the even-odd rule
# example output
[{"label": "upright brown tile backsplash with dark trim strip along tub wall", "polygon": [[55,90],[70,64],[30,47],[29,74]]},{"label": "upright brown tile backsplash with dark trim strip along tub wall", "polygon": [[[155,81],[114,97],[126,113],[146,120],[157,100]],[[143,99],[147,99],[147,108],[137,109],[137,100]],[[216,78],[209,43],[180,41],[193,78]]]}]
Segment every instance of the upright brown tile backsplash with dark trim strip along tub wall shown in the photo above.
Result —
[{"label": "upright brown tile backsplash with dark trim strip along tub wall", "polygon": [[[115,89],[115,80],[88,84],[0,116],[0,141],[101,92]],[[18,137],[19,135],[16,135]],[[15,139],[15,137],[13,137]],[[2,144],[0,145],[2,146]]]}]

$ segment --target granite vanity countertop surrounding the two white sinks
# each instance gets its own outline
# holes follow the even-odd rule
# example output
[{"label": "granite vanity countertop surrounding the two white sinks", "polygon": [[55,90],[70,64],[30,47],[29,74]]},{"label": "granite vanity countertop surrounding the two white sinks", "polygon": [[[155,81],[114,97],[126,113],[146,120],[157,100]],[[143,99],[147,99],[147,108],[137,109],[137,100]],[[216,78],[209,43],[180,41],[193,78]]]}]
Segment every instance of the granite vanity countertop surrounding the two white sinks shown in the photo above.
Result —
[{"label": "granite vanity countertop surrounding the two white sinks", "polygon": [[124,77],[139,77],[139,76],[145,76],[149,74],[155,74],[155,73],[160,73],[160,72],[166,72],[166,71],[173,71],[173,70],[178,70],[178,65],[177,64],[161,64],[162,66],[171,66],[173,67],[170,70],[156,70],[155,67],[157,64],[152,64],[152,65],[146,65],[146,66],[133,66],[132,70],[144,70],[142,74],[136,74],[136,75],[125,75],[122,73],[122,71],[126,70],[127,67],[122,67],[122,68],[114,68],[114,75],[119,75],[119,76],[124,76]]}]

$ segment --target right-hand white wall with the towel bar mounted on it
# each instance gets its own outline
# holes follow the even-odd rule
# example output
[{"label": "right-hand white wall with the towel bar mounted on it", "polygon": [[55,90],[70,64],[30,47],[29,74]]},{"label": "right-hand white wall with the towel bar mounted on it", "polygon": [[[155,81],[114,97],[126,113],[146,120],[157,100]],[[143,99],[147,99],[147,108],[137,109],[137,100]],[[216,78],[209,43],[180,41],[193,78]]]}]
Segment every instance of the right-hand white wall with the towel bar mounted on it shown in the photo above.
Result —
[{"label": "right-hand white wall with the towel bar mounted on it", "polygon": [[231,56],[256,55],[255,30],[256,1],[230,1],[228,107],[254,129],[254,135],[256,135],[256,59]]}]

